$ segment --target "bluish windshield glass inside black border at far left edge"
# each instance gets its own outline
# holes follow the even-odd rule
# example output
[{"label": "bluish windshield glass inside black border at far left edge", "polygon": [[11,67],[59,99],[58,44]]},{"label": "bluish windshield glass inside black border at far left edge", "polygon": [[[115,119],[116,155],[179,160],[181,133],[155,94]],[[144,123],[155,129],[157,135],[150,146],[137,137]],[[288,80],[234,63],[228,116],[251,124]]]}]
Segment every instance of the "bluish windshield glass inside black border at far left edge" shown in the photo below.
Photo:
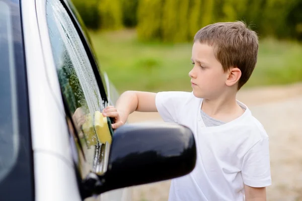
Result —
[{"label": "bluish windshield glass inside black border at far left edge", "polygon": [[19,134],[10,8],[0,1],[0,181],[16,163]]}]

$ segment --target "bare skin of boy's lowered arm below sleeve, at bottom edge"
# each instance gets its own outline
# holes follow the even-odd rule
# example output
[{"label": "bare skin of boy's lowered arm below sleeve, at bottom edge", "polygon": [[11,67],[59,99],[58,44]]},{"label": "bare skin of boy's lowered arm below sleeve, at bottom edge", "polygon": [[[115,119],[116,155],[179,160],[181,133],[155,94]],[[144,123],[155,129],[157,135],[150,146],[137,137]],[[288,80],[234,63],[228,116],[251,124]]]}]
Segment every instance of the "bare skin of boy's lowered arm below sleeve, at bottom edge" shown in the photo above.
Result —
[{"label": "bare skin of boy's lowered arm below sleeve, at bottom edge", "polygon": [[246,201],[266,201],[265,187],[251,187],[244,184]]}]

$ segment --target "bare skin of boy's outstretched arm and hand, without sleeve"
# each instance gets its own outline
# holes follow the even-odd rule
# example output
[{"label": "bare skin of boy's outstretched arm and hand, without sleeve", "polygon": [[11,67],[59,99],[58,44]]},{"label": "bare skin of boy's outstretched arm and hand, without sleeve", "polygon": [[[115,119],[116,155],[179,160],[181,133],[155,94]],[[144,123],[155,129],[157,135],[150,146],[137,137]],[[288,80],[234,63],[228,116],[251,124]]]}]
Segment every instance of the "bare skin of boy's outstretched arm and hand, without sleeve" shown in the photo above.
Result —
[{"label": "bare skin of boy's outstretched arm and hand, without sleeve", "polygon": [[116,106],[108,106],[103,111],[103,116],[115,118],[112,128],[116,129],[128,119],[134,111],[157,112],[155,104],[156,93],[144,91],[125,91],[120,95]]}]

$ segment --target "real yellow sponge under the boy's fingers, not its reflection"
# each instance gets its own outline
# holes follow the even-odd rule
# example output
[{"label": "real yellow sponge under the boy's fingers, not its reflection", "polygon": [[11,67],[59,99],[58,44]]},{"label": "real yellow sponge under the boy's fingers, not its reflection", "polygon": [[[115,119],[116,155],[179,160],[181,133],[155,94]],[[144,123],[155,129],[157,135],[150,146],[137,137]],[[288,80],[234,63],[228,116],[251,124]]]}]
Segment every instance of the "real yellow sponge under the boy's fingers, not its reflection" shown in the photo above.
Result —
[{"label": "real yellow sponge under the boy's fingers, not its reflection", "polygon": [[108,122],[107,117],[104,117],[101,112],[96,111],[94,113],[94,129],[99,142],[102,144],[105,144],[106,142],[111,144],[112,141],[108,123],[110,123],[110,121]]}]

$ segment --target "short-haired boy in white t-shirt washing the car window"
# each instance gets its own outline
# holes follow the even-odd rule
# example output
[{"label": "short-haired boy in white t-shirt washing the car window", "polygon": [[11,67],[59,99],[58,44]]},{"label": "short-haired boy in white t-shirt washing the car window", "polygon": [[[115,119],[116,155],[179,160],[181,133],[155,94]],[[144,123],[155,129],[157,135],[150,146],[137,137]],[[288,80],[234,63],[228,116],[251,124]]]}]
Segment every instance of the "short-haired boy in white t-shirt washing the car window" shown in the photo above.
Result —
[{"label": "short-haired boy in white t-shirt washing the car window", "polygon": [[[269,140],[246,105],[236,100],[257,62],[258,37],[242,22],[199,30],[189,72],[192,92],[126,91],[103,111],[118,128],[134,111],[159,112],[189,127],[197,146],[195,169],[172,179],[169,200],[266,200],[271,185]],[[167,75],[169,76],[169,75]]]}]

